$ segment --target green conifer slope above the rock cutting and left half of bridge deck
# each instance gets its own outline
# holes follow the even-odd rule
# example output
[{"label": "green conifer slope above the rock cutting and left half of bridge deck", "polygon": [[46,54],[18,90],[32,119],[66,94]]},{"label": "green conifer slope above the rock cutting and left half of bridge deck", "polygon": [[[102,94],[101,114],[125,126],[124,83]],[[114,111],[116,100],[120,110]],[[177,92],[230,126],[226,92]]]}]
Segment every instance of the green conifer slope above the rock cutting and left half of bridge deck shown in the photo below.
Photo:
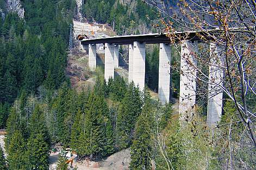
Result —
[{"label": "green conifer slope above the rock cutting and left half of bridge deck", "polygon": [[157,31],[149,20],[157,16],[157,11],[141,0],[88,0],[84,1],[83,14],[89,22],[110,24],[118,35]]}]

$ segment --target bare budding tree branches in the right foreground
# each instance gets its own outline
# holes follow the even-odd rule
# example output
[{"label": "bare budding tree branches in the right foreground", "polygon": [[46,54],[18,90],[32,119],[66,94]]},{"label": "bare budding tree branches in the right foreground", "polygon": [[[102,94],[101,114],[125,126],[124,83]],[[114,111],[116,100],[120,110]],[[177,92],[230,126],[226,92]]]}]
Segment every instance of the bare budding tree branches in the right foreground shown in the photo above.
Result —
[{"label": "bare budding tree branches in the right foreground", "polygon": [[[201,42],[216,45],[218,50],[214,50],[214,53],[217,53],[216,56],[223,62],[212,62],[210,51],[204,51],[203,55],[201,50],[201,53],[193,53],[197,64],[189,64],[197,70],[197,79],[218,87],[234,102],[239,117],[256,147],[256,2],[186,0],[179,1],[177,6],[171,8],[164,1],[145,2],[158,9],[159,19],[154,21],[155,25],[167,34],[177,49],[182,42],[191,40],[189,32],[198,32],[196,36]],[[180,37],[177,34],[179,31],[186,34]],[[198,63],[201,65],[198,66]],[[210,67],[223,70],[223,79],[216,81],[205,73],[205,68],[210,71]],[[200,89],[197,89],[197,93],[200,93]]]}]

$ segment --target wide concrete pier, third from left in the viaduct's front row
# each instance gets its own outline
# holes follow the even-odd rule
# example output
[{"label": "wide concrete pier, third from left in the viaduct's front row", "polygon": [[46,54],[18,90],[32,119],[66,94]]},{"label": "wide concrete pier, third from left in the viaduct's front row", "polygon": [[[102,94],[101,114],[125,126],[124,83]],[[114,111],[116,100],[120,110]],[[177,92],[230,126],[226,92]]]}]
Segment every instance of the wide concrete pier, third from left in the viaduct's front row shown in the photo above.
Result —
[{"label": "wide concrete pier, third from left in the viaduct's front row", "polygon": [[133,81],[140,90],[145,88],[146,43],[134,42],[133,46]]}]

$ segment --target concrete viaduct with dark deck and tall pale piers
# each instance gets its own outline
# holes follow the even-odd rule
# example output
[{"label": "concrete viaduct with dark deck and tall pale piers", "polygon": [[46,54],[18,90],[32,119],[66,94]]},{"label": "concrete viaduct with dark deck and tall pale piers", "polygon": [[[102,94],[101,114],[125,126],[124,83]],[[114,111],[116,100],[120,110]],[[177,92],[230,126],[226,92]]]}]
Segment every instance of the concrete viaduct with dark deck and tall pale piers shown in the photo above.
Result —
[{"label": "concrete viaduct with dark deck and tall pale piers", "polygon": [[[196,42],[199,38],[196,32],[185,34],[177,33],[179,37],[186,36],[190,41],[184,41],[181,48],[180,60],[180,96],[179,96],[179,114],[180,119],[192,116],[192,109],[196,104],[196,74],[197,70],[188,63],[188,61],[196,64],[191,53],[193,51],[192,42]],[[104,77],[108,81],[110,77],[114,78],[114,69],[118,68],[118,45],[129,45],[129,77],[128,81],[139,85],[140,90],[145,87],[145,60],[146,60],[146,44],[160,44],[159,48],[159,86],[158,96],[162,103],[168,103],[170,99],[170,70],[171,70],[171,47],[170,39],[165,34],[144,34],[144,35],[128,35],[104,37],[95,39],[86,39],[81,41],[82,47],[86,49],[89,45],[89,67],[91,70],[96,68],[96,44],[105,44],[105,70]],[[214,44],[210,44],[210,55],[216,54]],[[88,47],[87,47],[88,49]],[[211,56],[210,56],[211,57]],[[217,68],[209,68],[209,77],[220,80],[223,73]],[[210,80],[210,79],[209,79]],[[214,82],[216,83],[216,82]],[[220,121],[222,114],[222,91],[209,82],[209,91],[220,91],[216,95],[209,92],[207,122],[214,125]]]}]

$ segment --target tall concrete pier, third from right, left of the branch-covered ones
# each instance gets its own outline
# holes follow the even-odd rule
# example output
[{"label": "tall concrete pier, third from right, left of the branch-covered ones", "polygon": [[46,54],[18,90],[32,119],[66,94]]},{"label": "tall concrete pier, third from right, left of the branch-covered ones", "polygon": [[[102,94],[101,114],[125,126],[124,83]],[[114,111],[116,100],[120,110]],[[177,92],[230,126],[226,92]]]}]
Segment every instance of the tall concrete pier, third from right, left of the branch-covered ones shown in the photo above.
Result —
[{"label": "tall concrete pier, third from right, left of the branch-covered ones", "polygon": [[170,70],[171,70],[171,47],[170,44],[160,44],[159,51],[159,81],[158,98],[165,104],[170,99]]}]

